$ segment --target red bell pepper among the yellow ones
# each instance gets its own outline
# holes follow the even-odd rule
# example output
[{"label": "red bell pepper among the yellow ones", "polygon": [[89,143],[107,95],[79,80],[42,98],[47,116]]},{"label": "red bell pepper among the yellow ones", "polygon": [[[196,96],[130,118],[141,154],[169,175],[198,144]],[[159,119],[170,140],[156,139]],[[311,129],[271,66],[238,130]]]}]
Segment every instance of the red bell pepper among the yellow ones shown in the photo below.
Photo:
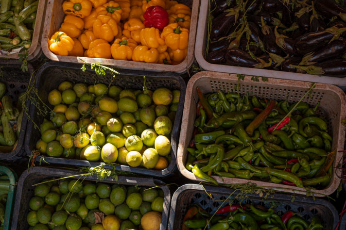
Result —
[{"label": "red bell pepper among the yellow ones", "polygon": [[145,27],[155,27],[160,31],[162,31],[169,23],[168,13],[161,6],[149,7],[145,11],[143,17],[145,18],[143,22]]}]

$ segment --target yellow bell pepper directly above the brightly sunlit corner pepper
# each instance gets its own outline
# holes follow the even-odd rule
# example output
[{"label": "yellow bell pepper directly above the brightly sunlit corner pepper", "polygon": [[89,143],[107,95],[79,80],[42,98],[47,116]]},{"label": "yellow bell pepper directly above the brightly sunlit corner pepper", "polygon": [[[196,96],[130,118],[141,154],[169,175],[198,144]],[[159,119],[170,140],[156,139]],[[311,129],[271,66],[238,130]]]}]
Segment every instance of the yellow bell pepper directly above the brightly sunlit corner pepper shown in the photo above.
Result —
[{"label": "yellow bell pepper directly above the brightly sunlit corner pepper", "polygon": [[84,28],[84,21],[82,18],[67,15],[64,22],[61,24],[59,31],[66,33],[69,37],[78,37]]}]

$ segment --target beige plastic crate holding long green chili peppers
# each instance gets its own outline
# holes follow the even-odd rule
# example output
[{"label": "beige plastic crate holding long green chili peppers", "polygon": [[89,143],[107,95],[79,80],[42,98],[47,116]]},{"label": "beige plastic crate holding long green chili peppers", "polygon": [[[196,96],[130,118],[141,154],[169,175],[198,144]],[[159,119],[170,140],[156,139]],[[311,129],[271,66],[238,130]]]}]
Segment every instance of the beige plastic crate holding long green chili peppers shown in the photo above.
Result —
[{"label": "beige plastic crate holding long green chili peppers", "polygon": [[[307,92],[310,85],[310,82],[279,79],[269,79],[268,82],[253,82],[251,81],[250,76],[245,76],[244,80],[240,81],[239,93],[249,93],[250,96],[254,95],[266,99],[288,99],[288,101],[292,103],[297,102]],[[195,177],[193,173],[185,167],[187,148],[192,138],[193,125],[196,118],[196,104],[199,100],[196,92],[197,86],[204,94],[214,92],[217,89],[221,89],[224,92],[238,92],[238,78],[235,74],[205,71],[195,74],[187,85],[177,152],[177,165],[180,173],[186,178],[194,181],[202,181]],[[346,127],[341,125],[341,120],[346,117],[346,95],[344,92],[335,85],[317,83],[311,93],[311,97],[306,97],[303,101],[306,101],[312,106],[320,102],[318,113],[328,118],[329,133],[331,133],[333,137],[332,150],[343,150],[346,130]],[[342,160],[342,157],[343,153],[337,152],[335,162],[339,163]],[[315,196],[332,194],[338,188],[340,183],[340,178],[337,175],[341,175],[341,171],[334,167],[329,185],[321,190],[311,189],[310,191],[316,193]],[[296,186],[237,178],[220,178],[219,176],[214,176],[213,178],[219,183],[239,184],[252,182],[256,183],[258,186],[268,188],[276,187],[275,189],[278,191],[306,194],[306,189],[298,188]]]}]

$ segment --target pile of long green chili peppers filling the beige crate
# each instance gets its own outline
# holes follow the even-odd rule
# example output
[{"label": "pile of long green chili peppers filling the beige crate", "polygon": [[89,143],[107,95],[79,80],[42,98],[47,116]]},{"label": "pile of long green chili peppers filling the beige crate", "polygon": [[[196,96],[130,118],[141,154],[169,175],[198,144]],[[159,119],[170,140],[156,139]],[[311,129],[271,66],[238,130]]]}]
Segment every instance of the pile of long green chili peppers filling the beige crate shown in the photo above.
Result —
[{"label": "pile of long green chili peppers filling the beige crate", "polygon": [[316,114],[319,104],[196,90],[199,102],[186,163],[196,177],[216,185],[219,177],[297,187],[329,184],[335,152],[328,122]]}]

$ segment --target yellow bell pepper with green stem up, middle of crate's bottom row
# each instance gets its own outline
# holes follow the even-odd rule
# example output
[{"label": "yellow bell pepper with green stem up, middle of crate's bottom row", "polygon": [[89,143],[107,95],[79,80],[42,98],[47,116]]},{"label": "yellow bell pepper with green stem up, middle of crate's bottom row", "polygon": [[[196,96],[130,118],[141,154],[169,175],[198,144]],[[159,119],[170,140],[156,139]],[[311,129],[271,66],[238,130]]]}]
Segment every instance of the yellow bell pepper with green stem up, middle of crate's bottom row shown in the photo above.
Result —
[{"label": "yellow bell pepper with green stem up, middle of crate's bottom row", "polygon": [[135,49],[136,46],[137,43],[131,38],[125,36],[117,38],[110,48],[112,57],[116,60],[131,60],[133,49]]}]

